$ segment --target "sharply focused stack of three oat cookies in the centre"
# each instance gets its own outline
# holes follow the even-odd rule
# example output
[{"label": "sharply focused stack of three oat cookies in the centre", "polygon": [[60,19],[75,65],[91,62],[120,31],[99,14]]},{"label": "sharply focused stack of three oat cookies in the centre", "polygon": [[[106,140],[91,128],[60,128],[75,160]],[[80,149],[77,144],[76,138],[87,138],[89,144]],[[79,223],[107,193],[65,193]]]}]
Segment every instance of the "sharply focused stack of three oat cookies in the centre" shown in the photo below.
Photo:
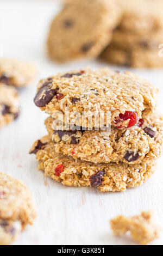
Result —
[{"label": "sharply focused stack of three oat cookies in the centre", "polygon": [[107,68],[41,80],[34,102],[49,114],[48,135],[30,153],[64,185],[102,192],[139,186],[162,154],[162,117],[153,113],[157,94],[147,81]]}]

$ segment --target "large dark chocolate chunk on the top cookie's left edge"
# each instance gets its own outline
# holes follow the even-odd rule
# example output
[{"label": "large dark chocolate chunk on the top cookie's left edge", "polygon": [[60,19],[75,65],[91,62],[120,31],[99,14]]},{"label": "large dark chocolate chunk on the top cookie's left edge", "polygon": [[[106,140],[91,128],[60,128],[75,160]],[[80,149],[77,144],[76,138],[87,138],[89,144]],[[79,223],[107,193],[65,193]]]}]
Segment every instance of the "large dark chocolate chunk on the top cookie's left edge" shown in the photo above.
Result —
[{"label": "large dark chocolate chunk on the top cookie's left edge", "polygon": [[45,82],[39,89],[36,96],[34,97],[34,102],[37,107],[45,107],[46,104],[48,104],[57,94],[57,89],[51,88],[52,82]]}]

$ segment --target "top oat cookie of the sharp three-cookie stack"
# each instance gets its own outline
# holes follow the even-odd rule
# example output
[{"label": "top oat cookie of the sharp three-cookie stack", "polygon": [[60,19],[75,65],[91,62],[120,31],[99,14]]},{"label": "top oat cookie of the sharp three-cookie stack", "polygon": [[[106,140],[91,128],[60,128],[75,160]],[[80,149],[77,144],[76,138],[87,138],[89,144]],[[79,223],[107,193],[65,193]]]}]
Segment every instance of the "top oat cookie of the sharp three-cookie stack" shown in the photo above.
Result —
[{"label": "top oat cookie of the sharp three-cookie stack", "polygon": [[41,80],[34,102],[52,117],[63,121],[68,116],[78,126],[131,127],[142,112],[155,109],[157,94],[158,89],[130,72],[85,69]]}]

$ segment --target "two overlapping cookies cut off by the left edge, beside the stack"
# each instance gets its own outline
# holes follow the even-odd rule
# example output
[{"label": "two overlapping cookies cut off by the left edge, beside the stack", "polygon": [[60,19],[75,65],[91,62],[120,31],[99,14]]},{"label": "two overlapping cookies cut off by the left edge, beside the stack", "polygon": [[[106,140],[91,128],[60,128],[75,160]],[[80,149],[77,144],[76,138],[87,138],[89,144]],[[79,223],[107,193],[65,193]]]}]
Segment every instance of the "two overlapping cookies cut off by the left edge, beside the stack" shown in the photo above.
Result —
[{"label": "two overlapping cookies cut off by the left edge, beside the stack", "polygon": [[20,99],[16,88],[26,86],[35,74],[35,68],[28,63],[0,58],[0,128],[18,117]]}]

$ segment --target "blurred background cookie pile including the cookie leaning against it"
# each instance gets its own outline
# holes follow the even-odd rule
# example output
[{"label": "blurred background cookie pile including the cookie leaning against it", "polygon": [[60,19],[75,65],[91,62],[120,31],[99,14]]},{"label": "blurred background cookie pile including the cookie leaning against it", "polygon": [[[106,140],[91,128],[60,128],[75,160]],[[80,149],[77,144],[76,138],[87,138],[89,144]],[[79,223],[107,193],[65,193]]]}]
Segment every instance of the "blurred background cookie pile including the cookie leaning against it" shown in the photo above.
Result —
[{"label": "blurred background cookie pile including the cookie leaning against it", "polygon": [[49,29],[49,57],[66,62],[100,56],[118,65],[160,68],[162,9],[161,0],[68,1]]}]

